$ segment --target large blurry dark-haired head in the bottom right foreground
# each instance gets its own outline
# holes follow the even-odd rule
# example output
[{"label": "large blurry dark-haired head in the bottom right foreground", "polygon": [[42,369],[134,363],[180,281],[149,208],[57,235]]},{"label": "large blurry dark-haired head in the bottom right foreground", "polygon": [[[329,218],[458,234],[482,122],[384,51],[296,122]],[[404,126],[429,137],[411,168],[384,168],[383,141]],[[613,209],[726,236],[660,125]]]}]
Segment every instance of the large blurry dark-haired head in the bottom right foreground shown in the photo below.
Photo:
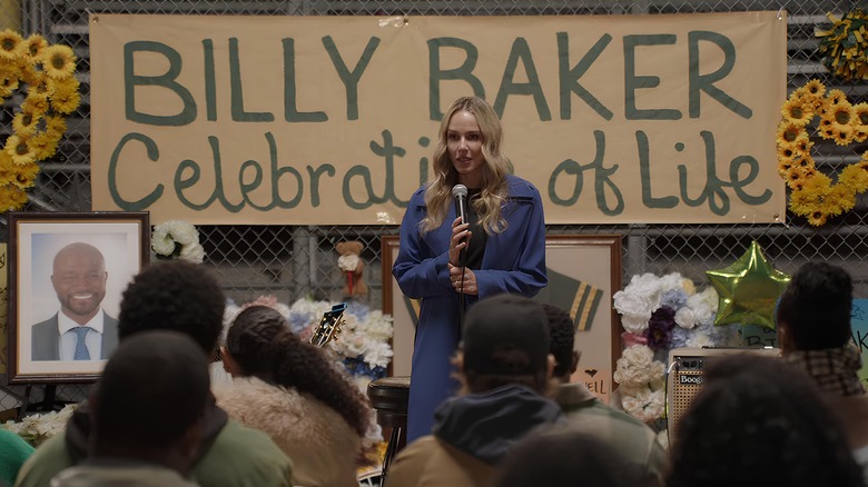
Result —
[{"label": "large blurry dark-haired head in the bottom right foreground", "polygon": [[862,476],[810,377],[780,359],[732,355],[706,367],[667,485],[847,487]]}]

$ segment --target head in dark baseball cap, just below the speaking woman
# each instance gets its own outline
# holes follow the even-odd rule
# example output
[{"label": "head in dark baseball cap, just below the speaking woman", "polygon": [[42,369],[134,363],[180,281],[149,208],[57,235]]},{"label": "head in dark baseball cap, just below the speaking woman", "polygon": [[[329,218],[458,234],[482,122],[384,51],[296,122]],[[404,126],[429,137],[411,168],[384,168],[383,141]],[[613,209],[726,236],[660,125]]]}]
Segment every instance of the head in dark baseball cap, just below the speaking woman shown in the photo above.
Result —
[{"label": "head in dark baseball cap, just below the speaking woman", "polygon": [[471,392],[521,384],[544,394],[554,368],[549,346],[549,324],[540,305],[501,295],[467,312],[457,362]]}]

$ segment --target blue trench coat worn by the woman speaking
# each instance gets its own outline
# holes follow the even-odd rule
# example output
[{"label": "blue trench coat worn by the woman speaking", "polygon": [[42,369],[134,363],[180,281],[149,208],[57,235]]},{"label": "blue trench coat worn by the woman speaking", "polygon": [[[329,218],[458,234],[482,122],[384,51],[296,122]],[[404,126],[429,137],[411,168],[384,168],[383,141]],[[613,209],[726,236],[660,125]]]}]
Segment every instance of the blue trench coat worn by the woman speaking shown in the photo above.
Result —
[{"label": "blue trench coat worn by the woman speaking", "polygon": [[[465,296],[467,309],[479,299],[504,292],[532,297],[546,285],[545,219],[542,198],[530,182],[507,176],[509,198],[503,208],[506,230],[491,235],[482,268],[474,270],[479,297]],[[401,245],[392,274],[410,298],[422,299],[413,348],[407,441],[430,435],[434,411],[457,389],[450,377],[450,359],[458,342],[458,294],[448,271],[448,247],[455,205],[436,230],[420,235],[425,218],[425,189],[407,205],[401,223]]]}]

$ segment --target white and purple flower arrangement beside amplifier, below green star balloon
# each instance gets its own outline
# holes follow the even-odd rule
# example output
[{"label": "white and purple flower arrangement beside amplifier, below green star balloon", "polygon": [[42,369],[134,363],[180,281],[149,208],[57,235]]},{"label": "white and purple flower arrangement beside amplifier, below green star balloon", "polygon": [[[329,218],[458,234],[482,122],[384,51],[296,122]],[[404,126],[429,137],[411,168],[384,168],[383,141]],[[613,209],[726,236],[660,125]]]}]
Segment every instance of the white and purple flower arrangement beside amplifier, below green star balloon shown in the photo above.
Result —
[{"label": "white and purple flower arrangement beside amplifier, below green star balloon", "polygon": [[665,411],[665,372],[669,350],[680,347],[727,346],[738,342],[738,327],[714,326],[718,294],[697,291],[680,274],[633,276],[613,296],[621,314],[625,349],[615,364],[621,406],[645,423]]}]

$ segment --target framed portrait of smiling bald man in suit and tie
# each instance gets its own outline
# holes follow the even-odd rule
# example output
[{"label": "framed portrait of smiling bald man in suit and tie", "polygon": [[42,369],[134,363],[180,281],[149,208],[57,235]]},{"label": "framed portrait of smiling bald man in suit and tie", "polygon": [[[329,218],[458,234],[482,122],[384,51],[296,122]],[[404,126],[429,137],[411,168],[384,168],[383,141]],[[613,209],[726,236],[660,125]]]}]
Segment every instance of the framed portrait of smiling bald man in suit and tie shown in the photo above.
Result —
[{"label": "framed portrait of smiling bald man in suit and tie", "polygon": [[10,384],[99,377],[149,238],[147,212],[9,213]]}]

